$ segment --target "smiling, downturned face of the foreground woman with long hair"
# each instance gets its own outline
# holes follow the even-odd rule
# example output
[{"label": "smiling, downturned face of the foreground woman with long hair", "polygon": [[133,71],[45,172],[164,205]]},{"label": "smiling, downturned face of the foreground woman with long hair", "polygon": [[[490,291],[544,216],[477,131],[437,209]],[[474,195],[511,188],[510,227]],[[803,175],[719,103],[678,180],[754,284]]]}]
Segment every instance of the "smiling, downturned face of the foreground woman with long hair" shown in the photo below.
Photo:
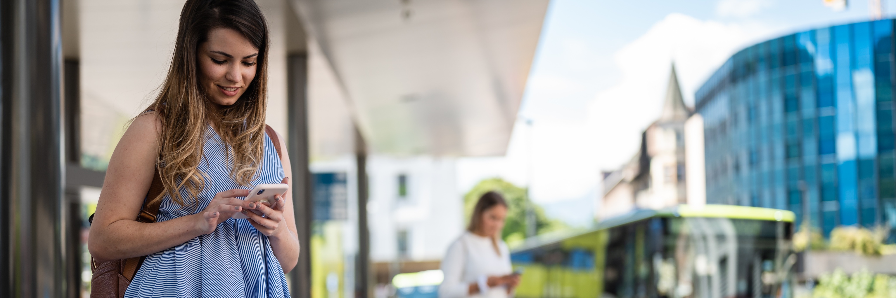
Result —
[{"label": "smiling, downturned face of the foreground woman with long hair", "polygon": [[258,67],[258,48],[236,30],[209,31],[196,53],[200,81],[212,102],[230,106],[249,88]]}]

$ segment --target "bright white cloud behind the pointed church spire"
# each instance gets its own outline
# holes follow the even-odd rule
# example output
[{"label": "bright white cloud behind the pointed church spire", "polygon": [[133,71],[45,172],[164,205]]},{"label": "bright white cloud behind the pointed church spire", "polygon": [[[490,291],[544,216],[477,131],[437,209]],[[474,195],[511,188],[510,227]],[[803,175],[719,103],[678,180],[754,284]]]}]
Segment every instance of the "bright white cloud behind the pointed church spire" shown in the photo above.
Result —
[{"label": "bright white cloud behind the pointed church spire", "polygon": [[620,49],[615,60],[622,80],[600,91],[590,106],[590,138],[599,142],[592,154],[600,157],[598,166],[620,166],[637,150],[641,132],[659,116],[672,61],[690,104],[694,91],[719,65],[769,31],[671,13]]}]

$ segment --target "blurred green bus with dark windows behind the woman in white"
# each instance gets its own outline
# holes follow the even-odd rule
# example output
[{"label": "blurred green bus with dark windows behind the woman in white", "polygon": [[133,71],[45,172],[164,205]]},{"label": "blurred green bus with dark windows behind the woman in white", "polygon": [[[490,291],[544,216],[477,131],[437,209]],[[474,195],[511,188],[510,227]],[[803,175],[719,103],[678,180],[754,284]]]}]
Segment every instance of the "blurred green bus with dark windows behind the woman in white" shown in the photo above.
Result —
[{"label": "blurred green bus with dark windows behind the woman in white", "polygon": [[731,205],[637,210],[511,252],[519,298],[793,297],[794,213]]}]

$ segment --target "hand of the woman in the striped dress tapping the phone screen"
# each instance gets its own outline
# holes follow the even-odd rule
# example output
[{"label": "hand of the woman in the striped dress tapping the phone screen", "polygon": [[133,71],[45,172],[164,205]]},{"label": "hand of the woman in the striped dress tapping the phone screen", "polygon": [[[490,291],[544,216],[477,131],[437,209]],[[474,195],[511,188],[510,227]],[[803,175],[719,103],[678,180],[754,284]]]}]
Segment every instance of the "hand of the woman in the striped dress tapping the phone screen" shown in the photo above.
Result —
[{"label": "hand of the woman in the striped dress tapping the phone screen", "polygon": [[196,214],[200,218],[196,223],[196,229],[202,234],[211,234],[211,232],[215,231],[215,227],[218,224],[228,220],[234,213],[245,211],[246,209],[255,209],[258,205],[262,205],[237,199],[247,195],[249,195],[249,190],[234,189],[218,192],[209,202],[209,206]]}]

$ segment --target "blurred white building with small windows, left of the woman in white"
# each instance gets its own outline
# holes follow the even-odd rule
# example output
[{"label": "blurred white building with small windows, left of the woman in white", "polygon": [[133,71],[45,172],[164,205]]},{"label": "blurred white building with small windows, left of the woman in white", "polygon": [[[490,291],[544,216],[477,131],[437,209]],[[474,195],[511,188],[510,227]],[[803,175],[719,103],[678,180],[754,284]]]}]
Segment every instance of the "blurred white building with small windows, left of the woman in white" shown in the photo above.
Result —
[{"label": "blurred white building with small windows, left of the woman in white", "polygon": [[370,260],[377,282],[435,269],[463,231],[455,159],[429,156],[368,161]]}]

